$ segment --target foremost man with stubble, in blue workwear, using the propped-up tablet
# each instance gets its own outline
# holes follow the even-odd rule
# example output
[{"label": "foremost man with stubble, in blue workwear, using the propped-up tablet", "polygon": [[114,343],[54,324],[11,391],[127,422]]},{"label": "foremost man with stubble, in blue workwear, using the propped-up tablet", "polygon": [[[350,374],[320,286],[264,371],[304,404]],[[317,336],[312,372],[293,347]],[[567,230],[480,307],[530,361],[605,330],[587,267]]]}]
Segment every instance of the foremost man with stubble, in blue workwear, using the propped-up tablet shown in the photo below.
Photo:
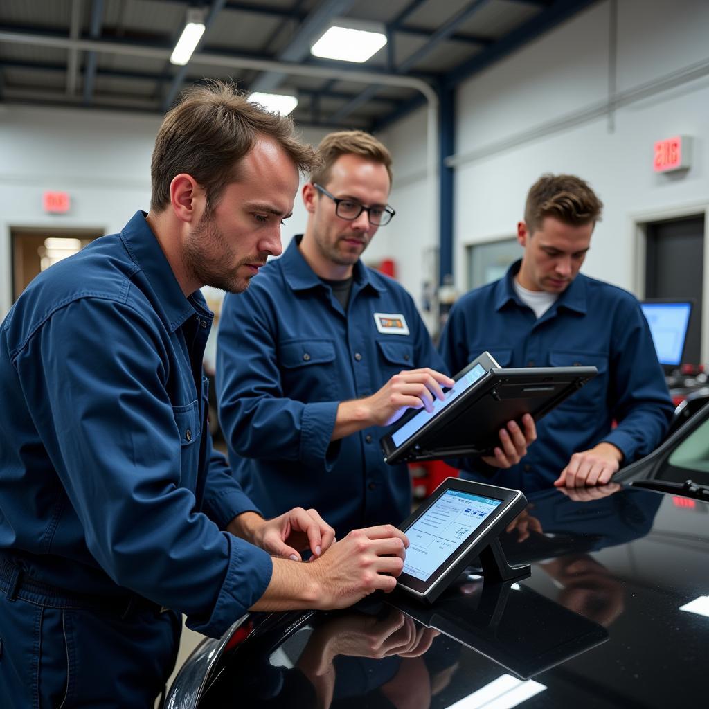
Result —
[{"label": "foremost man with stubble, in blue workwear, using the propped-up tablet", "polygon": [[[180,613],[219,637],[249,609],[396,584],[401,532],[335,543],[313,509],[264,521],[206,425],[199,288],[243,291],[281,252],[312,161],[290,121],[195,87],[158,133],[150,213],[40,274],[2,323],[4,708],[152,708]],[[313,563],[291,561],[306,547]]]}]

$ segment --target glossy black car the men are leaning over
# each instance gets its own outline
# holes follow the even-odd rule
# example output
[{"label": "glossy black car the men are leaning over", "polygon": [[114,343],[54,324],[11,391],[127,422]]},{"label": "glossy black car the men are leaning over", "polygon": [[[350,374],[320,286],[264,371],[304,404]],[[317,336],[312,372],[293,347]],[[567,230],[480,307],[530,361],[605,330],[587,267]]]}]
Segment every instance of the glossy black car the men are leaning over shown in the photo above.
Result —
[{"label": "glossy black car the men are leaning over", "polygon": [[709,406],[616,478],[529,496],[501,537],[529,578],[485,584],[473,565],[430,606],[395,591],[247,615],[196,649],[165,705],[707,705]]}]

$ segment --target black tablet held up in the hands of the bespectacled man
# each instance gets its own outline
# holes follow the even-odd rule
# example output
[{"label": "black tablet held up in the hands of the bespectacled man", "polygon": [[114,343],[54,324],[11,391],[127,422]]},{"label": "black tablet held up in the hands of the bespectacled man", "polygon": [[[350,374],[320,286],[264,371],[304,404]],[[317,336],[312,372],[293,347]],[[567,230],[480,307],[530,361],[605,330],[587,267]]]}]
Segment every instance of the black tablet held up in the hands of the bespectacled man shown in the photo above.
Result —
[{"label": "black tablet held up in the hands of the bespectacled man", "polygon": [[508,421],[539,420],[598,374],[596,367],[500,369],[483,352],[435,399],[433,410],[412,409],[381,438],[389,464],[490,454]]}]

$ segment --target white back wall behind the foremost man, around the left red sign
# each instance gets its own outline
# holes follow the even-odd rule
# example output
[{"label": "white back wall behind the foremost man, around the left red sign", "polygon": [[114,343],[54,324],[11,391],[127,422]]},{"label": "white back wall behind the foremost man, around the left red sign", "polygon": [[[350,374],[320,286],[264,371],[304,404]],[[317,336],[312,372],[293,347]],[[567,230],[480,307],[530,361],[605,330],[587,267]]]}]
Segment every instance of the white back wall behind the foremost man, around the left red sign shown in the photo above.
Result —
[{"label": "white back wall behind the foremost man, around the left red sign", "polygon": [[[0,108],[0,319],[12,304],[10,230],[18,226],[96,228],[116,233],[150,204],[150,156],[160,116],[75,109]],[[318,143],[324,131],[303,131]],[[71,209],[48,215],[46,190],[71,196]],[[296,196],[284,245],[302,232],[306,211]]]}]

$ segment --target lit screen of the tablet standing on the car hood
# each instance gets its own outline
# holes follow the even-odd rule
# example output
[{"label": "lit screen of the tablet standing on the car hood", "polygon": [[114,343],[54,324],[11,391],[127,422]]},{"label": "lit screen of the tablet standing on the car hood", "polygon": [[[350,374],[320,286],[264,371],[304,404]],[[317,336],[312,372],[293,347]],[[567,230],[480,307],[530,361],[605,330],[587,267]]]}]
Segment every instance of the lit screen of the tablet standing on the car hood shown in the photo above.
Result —
[{"label": "lit screen of the tablet standing on the car hood", "polygon": [[404,530],[411,542],[406,549],[404,573],[428,581],[501,502],[457,490],[445,491]]}]

